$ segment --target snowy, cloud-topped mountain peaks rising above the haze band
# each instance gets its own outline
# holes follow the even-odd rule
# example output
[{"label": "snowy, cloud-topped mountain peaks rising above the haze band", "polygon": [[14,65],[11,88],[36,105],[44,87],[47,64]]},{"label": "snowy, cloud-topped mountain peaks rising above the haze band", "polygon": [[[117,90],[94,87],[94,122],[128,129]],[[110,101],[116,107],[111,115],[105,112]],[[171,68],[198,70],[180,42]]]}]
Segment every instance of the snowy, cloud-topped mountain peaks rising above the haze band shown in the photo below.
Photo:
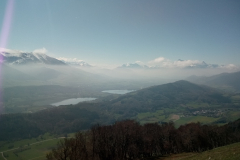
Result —
[{"label": "snowy, cloud-topped mountain peaks rising above the haze band", "polygon": [[[33,51],[33,52],[23,52],[16,50],[1,50],[0,52],[1,61],[6,64],[11,65],[24,65],[24,64],[47,64],[47,65],[71,65],[82,68],[91,68],[91,64],[78,60],[76,58],[54,58],[50,57],[45,53]],[[224,68],[225,65],[209,64],[204,61],[185,61],[178,59],[174,62],[169,62],[167,65],[158,64],[144,64],[142,62],[127,63],[118,66],[116,69],[161,69],[161,68]],[[96,69],[96,67],[95,67]]]}]

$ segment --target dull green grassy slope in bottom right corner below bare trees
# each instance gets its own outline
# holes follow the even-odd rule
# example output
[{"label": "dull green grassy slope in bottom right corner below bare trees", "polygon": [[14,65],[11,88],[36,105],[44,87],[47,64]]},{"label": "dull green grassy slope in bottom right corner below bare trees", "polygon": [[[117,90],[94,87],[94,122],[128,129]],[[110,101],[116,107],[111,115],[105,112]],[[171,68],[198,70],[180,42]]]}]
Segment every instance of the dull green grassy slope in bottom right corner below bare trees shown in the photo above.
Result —
[{"label": "dull green grassy slope in bottom right corner below bare trees", "polygon": [[182,153],[171,155],[168,157],[161,157],[158,160],[239,160],[240,157],[240,143],[218,147],[202,153]]}]

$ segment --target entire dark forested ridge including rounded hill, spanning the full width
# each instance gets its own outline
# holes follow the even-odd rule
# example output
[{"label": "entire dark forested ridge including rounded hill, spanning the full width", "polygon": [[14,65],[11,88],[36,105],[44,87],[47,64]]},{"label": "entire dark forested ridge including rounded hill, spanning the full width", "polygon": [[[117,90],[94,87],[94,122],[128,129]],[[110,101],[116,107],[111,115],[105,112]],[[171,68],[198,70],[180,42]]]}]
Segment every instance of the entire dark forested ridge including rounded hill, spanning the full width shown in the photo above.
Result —
[{"label": "entire dark forested ridge including rounded hill, spanning the full width", "polygon": [[[9,94],[11,93],[14,92],[9,90]],[[197,106],[193,106],[192,103],[196,103]],[[235,114],[239,106],[240,102],[233,102],[231,95],[187,81],[177,81],[128,93],[118,98],[108,98],[99,103],[79,103],[35,113],[2,114],[0,140],[31,138],[46,132],[56,134],[77,132],[89,129],[96,123],[112,124],[122,119],[135,119],[139,113],[154,113],[161,109],[165,117],[167,114],[178,112],[182,112],[183,116],[185,114],[185,117],[196,116],[195,112],[198,113],[198,110],[208,109],[209,111],[203,112],[206,117],[215,117],[220,123],[227,123],[231,119],[228,120],[224,112],[229,110]],[[172,111],[167,113],[167,110]],[[164,122],[168,121],[166,118]]]}]

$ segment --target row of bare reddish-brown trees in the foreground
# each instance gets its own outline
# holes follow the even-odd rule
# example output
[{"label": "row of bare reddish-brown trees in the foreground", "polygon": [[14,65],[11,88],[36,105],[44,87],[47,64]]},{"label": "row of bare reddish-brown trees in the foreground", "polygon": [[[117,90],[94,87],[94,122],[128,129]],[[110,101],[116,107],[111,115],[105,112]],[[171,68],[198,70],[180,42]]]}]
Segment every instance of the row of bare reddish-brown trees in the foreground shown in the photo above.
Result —
[{"label": "row of bare reddish-brown trees in the foreground", "polygon": [[240,119],[224,126],[173,122],[140,125],[124,120],[94,125],[66,138],[47,154],[48,160],[137,160],[182,152],[202,152],[240,141]]}]

